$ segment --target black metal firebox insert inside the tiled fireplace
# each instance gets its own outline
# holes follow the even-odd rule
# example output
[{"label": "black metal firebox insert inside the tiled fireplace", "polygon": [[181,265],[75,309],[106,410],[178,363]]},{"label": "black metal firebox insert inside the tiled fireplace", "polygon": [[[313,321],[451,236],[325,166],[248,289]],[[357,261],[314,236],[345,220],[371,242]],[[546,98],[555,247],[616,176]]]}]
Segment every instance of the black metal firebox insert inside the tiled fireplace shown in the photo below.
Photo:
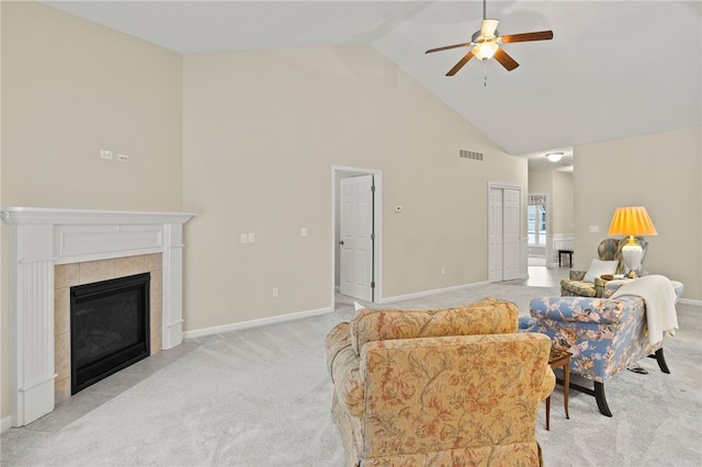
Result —
[{"label": "black metal firebox insert inside the tiled fireplace", "polygon": [[70,288],[71,395],[150,354],[150,274]]}]

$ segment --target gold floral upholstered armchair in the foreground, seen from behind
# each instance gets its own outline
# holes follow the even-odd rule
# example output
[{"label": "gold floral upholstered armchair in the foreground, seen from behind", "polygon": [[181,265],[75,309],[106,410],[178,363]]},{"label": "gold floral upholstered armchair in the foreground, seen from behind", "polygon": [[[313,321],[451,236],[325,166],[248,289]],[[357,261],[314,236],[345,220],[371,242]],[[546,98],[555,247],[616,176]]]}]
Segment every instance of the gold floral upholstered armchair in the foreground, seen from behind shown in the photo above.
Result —
[{"label": "gold floral upholstered armchair in the foreground, seen from behind", "polygon": [[535,424],[551,342],[518,307],[361,309],[327,335],[346,465],[542,465]]}]

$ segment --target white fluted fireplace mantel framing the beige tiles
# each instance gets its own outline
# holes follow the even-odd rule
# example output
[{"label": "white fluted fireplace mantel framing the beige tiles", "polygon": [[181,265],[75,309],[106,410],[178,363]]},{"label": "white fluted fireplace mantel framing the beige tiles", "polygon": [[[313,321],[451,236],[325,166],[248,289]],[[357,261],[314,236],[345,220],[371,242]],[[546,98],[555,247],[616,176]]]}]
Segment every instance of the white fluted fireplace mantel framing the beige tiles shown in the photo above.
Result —
[{"label": "white fluted fireplace mantel framing the beige tiles", "polygon": [[[182,230],[186,213],[3,207],[10,225],[12,426],[55,406],[55,266],[161,257],[161,348],[182,342]],[[158,258],[158,257],[157,257]]]}]

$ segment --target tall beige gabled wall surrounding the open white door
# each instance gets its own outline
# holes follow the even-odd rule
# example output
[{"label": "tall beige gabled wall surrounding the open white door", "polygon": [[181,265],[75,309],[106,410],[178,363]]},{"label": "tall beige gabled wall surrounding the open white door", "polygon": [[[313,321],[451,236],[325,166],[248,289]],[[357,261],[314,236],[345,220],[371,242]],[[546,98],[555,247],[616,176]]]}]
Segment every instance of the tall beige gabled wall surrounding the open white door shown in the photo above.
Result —
[{"label": "tall beige gabled wall surrounding the open white door", "polygon": [[375,49],[190,55],[183,70],[186,330],[330,306],[332,166],[383,171],[384,297],[487,280],[488,181],[525,192],[525,160]]}]

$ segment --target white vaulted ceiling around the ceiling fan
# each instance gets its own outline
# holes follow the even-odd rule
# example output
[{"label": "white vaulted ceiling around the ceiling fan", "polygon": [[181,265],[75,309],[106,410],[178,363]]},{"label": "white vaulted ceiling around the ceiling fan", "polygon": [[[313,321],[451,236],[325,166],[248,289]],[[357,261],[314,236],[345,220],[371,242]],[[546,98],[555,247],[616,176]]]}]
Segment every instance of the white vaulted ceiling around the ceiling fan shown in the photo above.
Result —
[{"label": "white vaulted ceiling around the ceiling fan", "polygon": [[501,35],[554,38],[452,78],[467,49],[424,50],[468,42],[480,0],[43,3],[182,54],[371,45],[516,156],[702,124],[699,1],[488,0]]}]

